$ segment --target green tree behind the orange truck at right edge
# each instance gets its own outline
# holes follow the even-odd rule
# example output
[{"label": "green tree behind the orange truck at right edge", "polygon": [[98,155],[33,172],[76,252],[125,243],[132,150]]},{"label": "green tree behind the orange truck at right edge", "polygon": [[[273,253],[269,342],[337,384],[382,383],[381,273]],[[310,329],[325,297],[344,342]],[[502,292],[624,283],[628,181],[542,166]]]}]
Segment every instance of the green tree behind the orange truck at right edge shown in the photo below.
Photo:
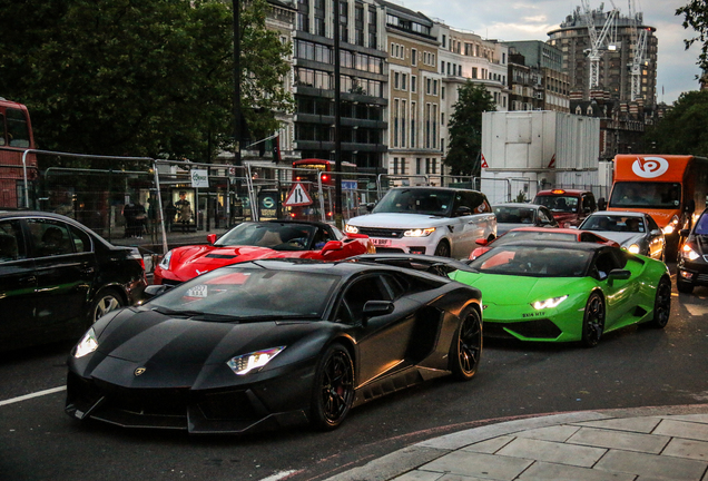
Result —
[{"label": "green tree behind the orange truck at right edge", "polygon": [[[679,96],[673,108],[648,129],[647,150],[661,154],[708,156],[708,91],[688,91]],[[649,140],[650,139],[650,140]]]}]

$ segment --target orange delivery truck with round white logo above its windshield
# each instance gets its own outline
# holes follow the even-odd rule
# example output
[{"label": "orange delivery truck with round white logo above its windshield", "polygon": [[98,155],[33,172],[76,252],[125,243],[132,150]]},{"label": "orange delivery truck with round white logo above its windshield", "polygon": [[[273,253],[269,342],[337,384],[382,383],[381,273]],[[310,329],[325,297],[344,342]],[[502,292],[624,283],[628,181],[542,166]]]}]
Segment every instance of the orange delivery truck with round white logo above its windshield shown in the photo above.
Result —
[{"label": "orange delivery truck with round white logo above its windshield", "polygon": [[[649,214],[676,249],[679,230],[706,208],[708,159],[690,155],[623,154],[614,157],[607,210]],[[602,207],[602,203],[599,203]]]}]

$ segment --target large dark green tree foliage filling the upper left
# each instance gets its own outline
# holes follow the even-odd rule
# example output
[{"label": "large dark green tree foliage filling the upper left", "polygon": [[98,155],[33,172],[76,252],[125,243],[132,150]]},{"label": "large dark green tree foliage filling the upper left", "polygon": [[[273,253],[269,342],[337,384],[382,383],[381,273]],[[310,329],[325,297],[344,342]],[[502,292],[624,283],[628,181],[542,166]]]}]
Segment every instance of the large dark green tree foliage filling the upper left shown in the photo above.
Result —
[{"label": "large dark green tree foliage filling the upper left", "polygon": [[[243,2],[242,2],[243,3]],[[220,0],[24,0],[0,10],[0,95],[30,109],[40,148],[208,161],[233,137],[233,12]],[[292,109],[289,45],[240,13],[252,135]],[[6,35],[11,32],[11,35]]]}]

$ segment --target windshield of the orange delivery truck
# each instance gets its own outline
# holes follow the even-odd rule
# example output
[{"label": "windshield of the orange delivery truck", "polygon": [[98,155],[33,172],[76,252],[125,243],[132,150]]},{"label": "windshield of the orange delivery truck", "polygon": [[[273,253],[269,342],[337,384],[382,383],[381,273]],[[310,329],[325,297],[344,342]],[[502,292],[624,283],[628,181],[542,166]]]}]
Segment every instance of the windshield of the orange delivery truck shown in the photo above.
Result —
[{"label": "windshield of the orange delivery truck", "polygon": [[614,183],[610,207],[670,208],[681,204],[681,185],[678,183],[623,181]]}]

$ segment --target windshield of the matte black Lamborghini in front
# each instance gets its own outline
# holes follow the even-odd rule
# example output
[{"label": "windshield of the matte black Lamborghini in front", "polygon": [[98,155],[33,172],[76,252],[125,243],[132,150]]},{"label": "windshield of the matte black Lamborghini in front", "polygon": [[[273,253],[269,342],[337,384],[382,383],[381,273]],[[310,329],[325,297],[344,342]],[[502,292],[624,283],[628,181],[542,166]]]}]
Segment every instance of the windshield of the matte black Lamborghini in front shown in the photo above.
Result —
[{"label": "windshield of the matte black Lamborghini in front", "polygon": [[238,318],[321,318],[338,276],[229,267],[204,274],[147,304],[165,314]]}]

